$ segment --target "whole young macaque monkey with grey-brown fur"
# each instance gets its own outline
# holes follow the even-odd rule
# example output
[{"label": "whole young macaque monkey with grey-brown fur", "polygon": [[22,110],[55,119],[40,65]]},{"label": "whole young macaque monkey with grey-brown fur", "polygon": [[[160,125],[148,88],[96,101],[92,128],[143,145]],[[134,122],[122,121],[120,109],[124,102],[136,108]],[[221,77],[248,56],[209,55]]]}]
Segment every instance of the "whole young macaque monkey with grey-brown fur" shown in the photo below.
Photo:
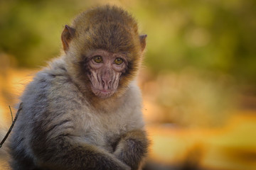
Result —
[{"label": "whole young macaque monkey with grey-brown fur", "polygon": [[146,35],[127,11],[100,6],[65,26],[61,40],[65,54],[21,97],[11,168],[141,169],[149,142],[135,78]]}]

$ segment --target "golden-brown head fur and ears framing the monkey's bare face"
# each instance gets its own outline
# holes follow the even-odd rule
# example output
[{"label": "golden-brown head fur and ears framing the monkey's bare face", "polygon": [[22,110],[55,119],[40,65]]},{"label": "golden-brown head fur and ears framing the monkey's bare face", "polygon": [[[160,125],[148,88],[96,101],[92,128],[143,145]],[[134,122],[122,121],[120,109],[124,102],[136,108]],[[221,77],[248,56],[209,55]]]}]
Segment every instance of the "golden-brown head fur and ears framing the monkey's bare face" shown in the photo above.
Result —
[{"label": "golden-brown head fur and ears framing the monkey's bare face", "polygon": [[[114,96],[137,75],[146,46],[146,35],[139,35],[137,22],[129,13],[117,6],[100,6],[80,13],[71,27],[62,34],[68,71],[81,89],[88,91],[88,55],[95,50],[126,56],[127,69],[122,72]],[[93,96],[93,95],[92,95]]]}]

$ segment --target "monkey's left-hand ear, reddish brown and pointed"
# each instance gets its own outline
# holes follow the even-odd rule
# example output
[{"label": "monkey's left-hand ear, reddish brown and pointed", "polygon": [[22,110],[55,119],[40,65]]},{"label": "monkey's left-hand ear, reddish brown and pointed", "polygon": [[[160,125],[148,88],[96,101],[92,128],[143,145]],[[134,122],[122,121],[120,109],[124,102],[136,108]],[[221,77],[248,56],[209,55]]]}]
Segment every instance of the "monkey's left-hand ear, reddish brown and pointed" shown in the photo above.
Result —
[{"label": "monkey's left-hand ear, reddish brown and pointed", "polygon": [[75,29],[65,25],[63,33],[61,34],[61,41],[63,42],[63,49],[65,53],[68,51],[69,42],[75,35]]}]

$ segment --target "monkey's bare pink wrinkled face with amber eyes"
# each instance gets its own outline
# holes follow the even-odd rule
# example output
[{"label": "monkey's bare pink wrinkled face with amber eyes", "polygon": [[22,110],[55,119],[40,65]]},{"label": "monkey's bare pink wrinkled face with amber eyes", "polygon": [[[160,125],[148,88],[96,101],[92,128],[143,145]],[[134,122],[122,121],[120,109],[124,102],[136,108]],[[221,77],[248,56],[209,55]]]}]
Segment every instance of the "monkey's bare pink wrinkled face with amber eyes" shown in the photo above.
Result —
[{"label": "monkey's bare pink wrinkled face with amber eyes", "polygon": [[87,76],[92,92],[100,98],[108,98],[117,91],[119,79],[127,70],[124,54],[95,50],[87,56]]}]

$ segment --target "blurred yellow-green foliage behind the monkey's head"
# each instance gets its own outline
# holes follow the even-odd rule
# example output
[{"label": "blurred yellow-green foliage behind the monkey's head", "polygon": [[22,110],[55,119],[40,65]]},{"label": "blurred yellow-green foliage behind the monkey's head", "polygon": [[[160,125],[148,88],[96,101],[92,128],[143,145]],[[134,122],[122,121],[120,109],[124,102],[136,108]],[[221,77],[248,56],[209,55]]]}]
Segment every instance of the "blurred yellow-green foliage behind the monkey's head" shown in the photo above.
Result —
[{"label": "blurred yellow-green foliage behind the monkey's head", "polygon": [[[80,11],[105,1],[0,1],[0,53],[38,67],[60,53],[60,34]],[[147,67],[186,67],[256,82],[256,1],[118,1],[148,35]]]}]

